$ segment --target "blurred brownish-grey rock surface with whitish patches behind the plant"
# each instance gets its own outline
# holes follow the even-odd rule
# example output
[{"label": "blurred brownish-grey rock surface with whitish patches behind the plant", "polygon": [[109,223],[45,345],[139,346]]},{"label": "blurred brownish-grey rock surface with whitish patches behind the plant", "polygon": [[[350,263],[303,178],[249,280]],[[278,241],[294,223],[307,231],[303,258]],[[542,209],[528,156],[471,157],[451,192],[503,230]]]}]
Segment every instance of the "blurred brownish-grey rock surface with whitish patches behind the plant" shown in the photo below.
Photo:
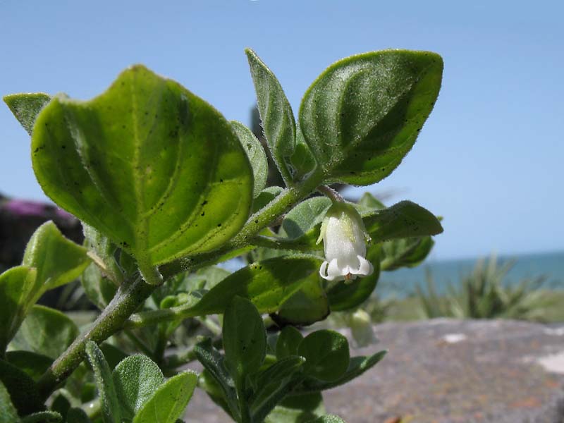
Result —
[{"label": "blurred brownish-grey rock surface with whitish patches behind the plant", "polygon": [[[378,344],[351,355],[387,349],[384,360],[324,393],[327,411],[348,423],[564,421],[564,326],[435,319],[375,333]],[[187,419],[228,422],[201,391]]]}]

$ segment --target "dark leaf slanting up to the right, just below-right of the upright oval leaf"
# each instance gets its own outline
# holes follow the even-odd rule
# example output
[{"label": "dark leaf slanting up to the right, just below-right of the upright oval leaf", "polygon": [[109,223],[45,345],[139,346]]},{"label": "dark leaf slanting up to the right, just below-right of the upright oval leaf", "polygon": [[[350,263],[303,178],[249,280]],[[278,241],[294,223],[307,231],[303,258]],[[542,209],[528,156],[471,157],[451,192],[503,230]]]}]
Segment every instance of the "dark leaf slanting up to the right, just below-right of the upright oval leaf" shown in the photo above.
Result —
[{"label": "dark leaf slanting up to the right, just below-right of the upright oval leaf", "polygon": [[255,398],[252,398],[251,415],[253,422],[262,422],[271,410],[299,383],[296,377],[305,359],[290,356],[278,360],[257,375]]}]

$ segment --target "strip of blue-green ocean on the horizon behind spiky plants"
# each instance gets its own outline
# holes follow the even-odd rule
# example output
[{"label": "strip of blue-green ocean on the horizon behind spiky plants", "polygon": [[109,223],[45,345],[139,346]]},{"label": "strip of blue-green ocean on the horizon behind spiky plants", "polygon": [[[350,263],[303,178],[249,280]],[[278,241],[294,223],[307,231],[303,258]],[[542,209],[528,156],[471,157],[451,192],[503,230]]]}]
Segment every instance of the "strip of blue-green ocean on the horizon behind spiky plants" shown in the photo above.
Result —
[{"label": "strip of blue-green ocean on the horizon behind spiky plants", "polygon": [[[486,259],[489,257],[485,257]],[[426,272],[430,271],[437,293],[445,293],[448,285],[457,286],[461,276],[469,274],[476,259],[453,259],[427,261],[412,269],[385,271],[380,275],[376,294],[381,298],[405,298],[415,292],[417,285],[426,287]],[[498,264],[513,260],[515,264],[508,271],[505,283],[519,283],[523,278],[544,276],[542,288],[564,289],[564,251],[528,255],[497,257]]]}]

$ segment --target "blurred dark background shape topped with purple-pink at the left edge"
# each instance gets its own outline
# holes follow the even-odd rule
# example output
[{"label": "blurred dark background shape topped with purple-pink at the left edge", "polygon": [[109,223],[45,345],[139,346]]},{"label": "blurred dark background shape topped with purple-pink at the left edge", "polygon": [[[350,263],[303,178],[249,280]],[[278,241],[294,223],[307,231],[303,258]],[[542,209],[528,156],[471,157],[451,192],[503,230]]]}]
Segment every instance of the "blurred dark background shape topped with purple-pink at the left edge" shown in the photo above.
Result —
[{"label": "blurred dark background shape topped with purple-pink at the left edge", "polygon": [[70,240],[82,244],[82,225],[53,204],[16,200],[0,194],[0,266],[21,264],[27,241],[42,223],[52,220]]}]

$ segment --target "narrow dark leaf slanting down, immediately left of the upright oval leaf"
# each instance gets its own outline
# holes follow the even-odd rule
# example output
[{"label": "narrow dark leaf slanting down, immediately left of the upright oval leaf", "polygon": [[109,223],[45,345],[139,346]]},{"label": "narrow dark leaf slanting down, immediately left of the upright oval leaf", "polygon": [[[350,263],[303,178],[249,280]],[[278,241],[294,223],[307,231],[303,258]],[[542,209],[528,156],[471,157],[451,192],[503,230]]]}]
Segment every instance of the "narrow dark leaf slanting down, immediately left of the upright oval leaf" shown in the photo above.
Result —
[{"label": "narrow dark leaf slanting down, immediately left of the upright oval leaf", "polygon": [[[194,353],[198,361],[202,363],[202,366],[221,388],[223,400],[226,403],[226,411],[231,414],[231,417],[235,418],[238,415],[238,400],[235,393],[235,382],[226,369],[225,358],[212,346],[212,340],[209,338],[197,343],[194,347]],[[210,396],[216,400],[218,395],[214,392],[210,393]]]}]

